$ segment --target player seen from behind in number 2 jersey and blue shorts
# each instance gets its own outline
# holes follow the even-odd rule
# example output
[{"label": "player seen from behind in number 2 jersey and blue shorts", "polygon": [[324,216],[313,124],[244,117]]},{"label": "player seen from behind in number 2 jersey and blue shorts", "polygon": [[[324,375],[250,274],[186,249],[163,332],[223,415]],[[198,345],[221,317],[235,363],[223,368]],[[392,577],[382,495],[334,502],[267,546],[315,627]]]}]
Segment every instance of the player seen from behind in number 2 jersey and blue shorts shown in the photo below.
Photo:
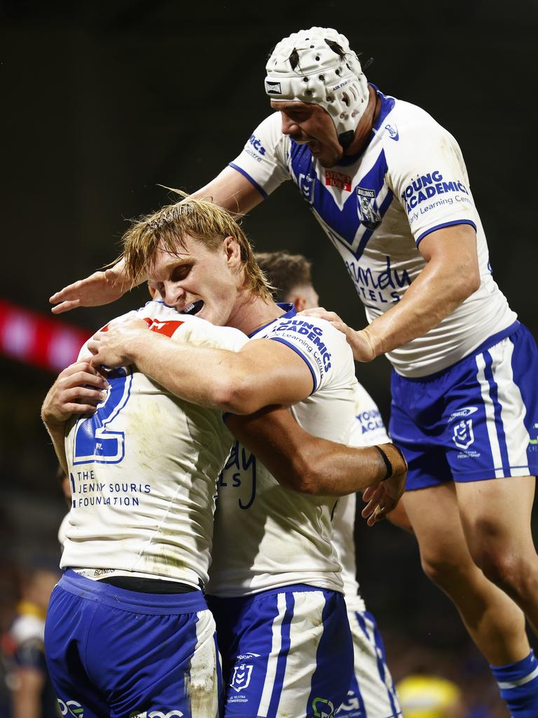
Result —
[{"label": "player seen from behind in number 2 jersey and blue shorts", "polygon": [[[133,314],[171,341],[237,350],[246,339],[163,302]],[[83,347],[42,409],[72,494],[45,635],[60,710],[216,718],[222,682],[201,587],[232,439],[218,412],[133,367],[105,378],[88,356]]]}]

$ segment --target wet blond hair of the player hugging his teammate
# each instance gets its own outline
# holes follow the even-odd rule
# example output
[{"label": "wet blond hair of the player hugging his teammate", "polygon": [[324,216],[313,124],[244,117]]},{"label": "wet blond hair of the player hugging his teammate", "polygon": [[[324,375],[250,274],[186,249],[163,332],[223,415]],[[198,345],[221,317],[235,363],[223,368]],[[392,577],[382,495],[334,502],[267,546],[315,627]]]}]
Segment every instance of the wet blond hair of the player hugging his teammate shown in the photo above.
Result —
[{"label": "wet blond hair of the player hugging his teammate", "polygon": [[123,235],[123,258],[134,283],[146,275],[158,249],[177,254],[186,249],[186,238],[201,242],[209,251],[232,237],[240,246],[241,269],[245,286],[260,299],[271,300],[273,287],[254,258],[253,248],[235,218],[209,200],[187,198],[166,205],[159,212],[133,222]]}]

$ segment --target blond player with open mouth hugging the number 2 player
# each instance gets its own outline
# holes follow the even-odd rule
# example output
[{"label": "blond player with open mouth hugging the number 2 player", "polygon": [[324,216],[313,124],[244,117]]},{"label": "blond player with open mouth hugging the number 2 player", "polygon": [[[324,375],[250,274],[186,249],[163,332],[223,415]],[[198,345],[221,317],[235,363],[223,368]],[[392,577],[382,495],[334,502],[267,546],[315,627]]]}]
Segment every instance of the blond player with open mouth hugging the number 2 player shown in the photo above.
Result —
[{"label": "blond player with open mouth hugging the number 2 player", "polygon": [[[324,320],[303,320],[293,307],[258,297],[245,282],[245,257],[235,240],[240,233],[222,208],[187,200],[134,224],[124,238],[133,276],[148,271],[166,304],[250,335],[240,351],[171,342],[136,319],[88,342],[93,364],[135,364],[177,396],[235,414],[292,404],[291,414],[309,432],[347,443],[355,378],[344,335]],[[230,481],[231,490],[219,495],[208,586],[229,676],[225,715],[329,716],[353,675],[331,515],[335,497],[359,479],[326,462],[321,483],[310,456],[305,460],[303,439],[285,422],[268,424],[266,413],[227,417],[242,443],[236,442],[220,479],[221,486]],[[293,422],[288,411],[280,414]],[[278,470],[283,439],[291,462],[303,454],[302,482],[295,485],[303,493],[281,488],[269,472],[293,487]],[[384,461],[383,450],[374,452]],[[401,470],[401,457],[398,464]],[[383,515],[390,496],[374,500]]]}]

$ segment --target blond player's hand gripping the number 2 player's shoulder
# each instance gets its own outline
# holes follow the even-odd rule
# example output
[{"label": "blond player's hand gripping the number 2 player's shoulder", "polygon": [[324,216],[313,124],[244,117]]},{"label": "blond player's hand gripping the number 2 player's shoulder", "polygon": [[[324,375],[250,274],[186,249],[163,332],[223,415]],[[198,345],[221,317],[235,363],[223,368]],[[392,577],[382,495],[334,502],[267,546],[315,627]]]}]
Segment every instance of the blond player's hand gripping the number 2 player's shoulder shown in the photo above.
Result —
[{"label": "blond player's hand gripping the number 2 player's shoulder", "polygon": [[140,340],[145,339],[148,325],[144,320],[133,317],[121,322],[110,322],[104,331],[97,332],[88,342],[93,354],[91,363],[110,368],[133,363],[133,353]]}]

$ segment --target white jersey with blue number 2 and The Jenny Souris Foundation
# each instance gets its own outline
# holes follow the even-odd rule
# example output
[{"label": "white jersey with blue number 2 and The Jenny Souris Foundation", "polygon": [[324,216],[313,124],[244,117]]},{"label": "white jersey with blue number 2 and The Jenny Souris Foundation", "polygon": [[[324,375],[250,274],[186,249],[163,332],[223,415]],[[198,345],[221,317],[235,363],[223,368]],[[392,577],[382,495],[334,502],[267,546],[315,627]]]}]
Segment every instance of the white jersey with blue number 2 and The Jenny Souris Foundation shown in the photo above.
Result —
[{"label": "white jersey with blue number 2 and The Jenny Souris Foundation", "polygon": [[[172,341],[230,350],[247,342],[163,302],[125,317],[133,314]],[[97,414],[72,421],[67,434],[72,508],[60,565],[94,579],[127,574],[197,587],[207,582],[230,432],[220,411],[181,401],[134,366],[113,370],[109,381]]]}]

